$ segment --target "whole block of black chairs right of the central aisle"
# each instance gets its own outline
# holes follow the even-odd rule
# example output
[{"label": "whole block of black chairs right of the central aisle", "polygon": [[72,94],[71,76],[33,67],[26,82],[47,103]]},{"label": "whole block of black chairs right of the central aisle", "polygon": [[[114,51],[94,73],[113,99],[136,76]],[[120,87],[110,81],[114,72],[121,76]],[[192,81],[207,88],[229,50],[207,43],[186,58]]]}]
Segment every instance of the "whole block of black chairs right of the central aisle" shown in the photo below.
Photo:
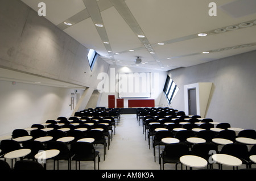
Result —
[{"label": "whole block of black chairs right of the central aisle", "polygon": [[[195,115],[190,117],[185,115],[183,111],[174,110],[172,108],[138,108],[137,109],[137,120],[138,122],[142,120],[143,125],[143,133],[145,133],[148,138],[148,145],[150,148],[150,137],[152,136],[152,146],[154,148],[154,157],[155,148],[158,146],[159,148],[159,164],[160,169],[164,169],[165,163],[175,163],[175,168],[177,169],[177,165],[180,163],[179,158],[183,155],[192,154],[197,155],[199,157],[205,158],[207,161],[210,161],[209,151],[211,153],[223,153],[233,155],[234,157],[240,158],[242,163],[246,165],[246,168],[250,168],[253,162],[250,161],[249,156],[256,154],[256,146],[254,145],[250,150],[248,150],[245,144],[241,144],[236,142],[236,137],[248,137],[248,138],[256,138],[256,132],[253,129],[246,129],[238,133],[232,130],[228,130],[230,128],[229,123],[220,123],[216,125],[216,128],[222,128],[224,131],[221,132],[213,132],[210,131],[210,128],[214,128],[212,119],[203,119],[198,120],[200,116]],[[180,124],[180,122],[189,122],[189,124]],[[150,123],[156,122],[159,124]],[[203,124],[197,125],[196,122],[201,122]],[[165,125],[164,123],[172,123]],[[156,128],[167,128],[168,131],[159,131],[155,132]],[[174,128],[185,128],[184,131],[173,131]],[[194,132],[193,128],[203,128],[204,131]],[[177,144],[164,144],[161,140],[165,137],[175,137],[180,140]],[[202,144],[190,144],[187,142],[187,138],[189,137],[199,137],[204,138],[206,140],[205,143]],[[223,146],[221,151],[218,151],[218,145],[212,142],[213,138],[225,138],[233,141],[233,144],[228,144]],[[160,146],[164,146],[164,150],[160,153]],[[208,166],[210,169],[213,168],[212,162],[208,162]],[[208,167],[207,166],[207,167]],[[221,165],[219,165],[219,169]],[[182,169],[182,166],[181,166]]]}]

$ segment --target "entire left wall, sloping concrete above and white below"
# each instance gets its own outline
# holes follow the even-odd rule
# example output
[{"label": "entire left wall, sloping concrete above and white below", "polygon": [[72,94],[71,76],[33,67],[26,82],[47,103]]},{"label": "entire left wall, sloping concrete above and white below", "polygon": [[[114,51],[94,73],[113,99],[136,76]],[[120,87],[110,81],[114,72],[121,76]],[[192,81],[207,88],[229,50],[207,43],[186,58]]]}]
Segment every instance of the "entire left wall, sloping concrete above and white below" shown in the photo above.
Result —
[{"label": "entire left wall, sloping concrete above and white below", "polygon": [[[97,88],[97,75],[108,72],[100,57],[91,71],[86,49],[19,0],[0,0],[0,67],[84,86],[78,111]],[[71,116],[74,90],[0,81],[0,136],[16,128]],[[76,96],[75,96],[76,98]],[[76,103],[76,100],[75,100]]]}]

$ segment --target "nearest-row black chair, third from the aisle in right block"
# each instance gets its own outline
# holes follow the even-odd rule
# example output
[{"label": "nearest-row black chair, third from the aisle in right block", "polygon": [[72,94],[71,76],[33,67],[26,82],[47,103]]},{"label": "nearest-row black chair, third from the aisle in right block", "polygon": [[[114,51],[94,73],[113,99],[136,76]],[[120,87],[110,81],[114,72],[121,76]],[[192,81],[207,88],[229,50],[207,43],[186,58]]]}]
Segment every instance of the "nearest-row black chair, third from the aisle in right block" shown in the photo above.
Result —
[{"label": "nearest-row black chair, third from the aisle in right block", "polygon": [[245,144],[234,143],[224,145],[220,151],[221,154],[228,154],[241,159],[242,164],[249,168],[250,158],[248,148]]}]

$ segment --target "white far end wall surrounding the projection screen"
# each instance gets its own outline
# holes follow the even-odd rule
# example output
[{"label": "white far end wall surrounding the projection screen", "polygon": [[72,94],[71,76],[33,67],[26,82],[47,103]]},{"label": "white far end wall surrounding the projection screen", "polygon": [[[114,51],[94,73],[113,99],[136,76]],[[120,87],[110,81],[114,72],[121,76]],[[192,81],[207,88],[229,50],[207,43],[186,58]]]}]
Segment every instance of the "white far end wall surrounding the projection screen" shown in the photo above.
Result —
[{"label": "white far end wall surrounding the projection screen", "polygon": [[[125,98],[124,99],[124,107],[128,107],[129,99],[155,99],[155,106],[159,106],[160,98],[163,92],[164,83],[167,77],[167,71],[156,71],[151,69],[139,69],[139,68],[130,68],[126,66],[114,66],[111,65],[108,71],[108,79],[105,79],[106,84],[109,86],[108,92],[103,92],[99,96],[101,98],[98,103],[98,107],[108,107],[108,95],[115,95],[115,99],[118,98],[118,92],[115,89],[117,86],[117,79],[115,79],[115,75],[117,73],[152,73],[152,82],[151,82],[151,95],[149,98]],[[100,77],[101,80],[103,78]],[[116,104],[116,102],[115,102]]]}]

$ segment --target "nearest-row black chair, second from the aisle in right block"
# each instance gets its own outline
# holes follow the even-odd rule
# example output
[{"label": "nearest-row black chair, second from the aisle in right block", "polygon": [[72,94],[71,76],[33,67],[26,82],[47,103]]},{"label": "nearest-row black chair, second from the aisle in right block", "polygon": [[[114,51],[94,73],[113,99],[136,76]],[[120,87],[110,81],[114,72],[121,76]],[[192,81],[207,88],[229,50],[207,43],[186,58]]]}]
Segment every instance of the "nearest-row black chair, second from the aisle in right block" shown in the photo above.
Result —
[{"label": "nearest-row black chair, second from the aisle in right block", "polygon": [[[214,153],[214,154],[218,153],[217,145],[211,142],[195,144],[191,149],[192,155],[196,155],[207,160],[208,165],[210,165],[210,169],[212,169],[212,162],[209,162],[209,158],[212,155],[211,153]],[[207,168],[208,168],[208,165],[207,165]]]}]

